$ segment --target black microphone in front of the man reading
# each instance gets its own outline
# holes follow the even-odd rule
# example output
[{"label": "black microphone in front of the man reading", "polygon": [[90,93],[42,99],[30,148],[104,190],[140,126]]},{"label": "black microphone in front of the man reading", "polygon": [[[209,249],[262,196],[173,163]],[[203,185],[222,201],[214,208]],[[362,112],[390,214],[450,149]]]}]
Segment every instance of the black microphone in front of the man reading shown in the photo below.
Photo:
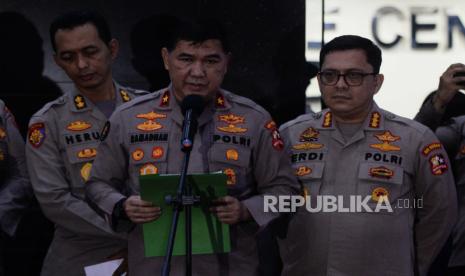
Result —
[{"label": "black microphone in front of the man reading", "polygon": [[197,118],[205,107],[205,102],[202,96],[187,95],[181,102],[181,111],[184,115],[182,123],[181,150],[190,152],[194,145],[194,136],[197,132]]}]

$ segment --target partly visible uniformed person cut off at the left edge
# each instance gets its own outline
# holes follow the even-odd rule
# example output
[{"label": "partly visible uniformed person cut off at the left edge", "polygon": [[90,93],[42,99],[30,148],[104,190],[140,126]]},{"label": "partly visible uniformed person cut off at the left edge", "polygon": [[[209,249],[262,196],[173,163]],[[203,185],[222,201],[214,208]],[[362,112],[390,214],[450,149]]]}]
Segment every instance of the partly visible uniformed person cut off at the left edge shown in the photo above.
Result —
[{"label": "partly visible uniformed person cut off at the left edge", "polygon": [[0,100],[0,275],[4,275],[2,238],[15,234],[32,198],[24,140],[13,115]]}]

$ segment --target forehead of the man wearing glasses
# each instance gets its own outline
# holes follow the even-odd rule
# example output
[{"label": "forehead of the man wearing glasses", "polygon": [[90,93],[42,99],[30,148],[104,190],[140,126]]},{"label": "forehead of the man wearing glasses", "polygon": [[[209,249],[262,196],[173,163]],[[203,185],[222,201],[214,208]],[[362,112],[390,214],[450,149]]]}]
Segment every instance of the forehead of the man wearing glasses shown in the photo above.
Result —
[{"label": "forehead of the man wearing glasses", "polygon": [[350,69],[371,70],[373,68],[367,61],[365,51],[361,49],[351,49],[330,52],[326,55],[321,69],[343,71]]}]

